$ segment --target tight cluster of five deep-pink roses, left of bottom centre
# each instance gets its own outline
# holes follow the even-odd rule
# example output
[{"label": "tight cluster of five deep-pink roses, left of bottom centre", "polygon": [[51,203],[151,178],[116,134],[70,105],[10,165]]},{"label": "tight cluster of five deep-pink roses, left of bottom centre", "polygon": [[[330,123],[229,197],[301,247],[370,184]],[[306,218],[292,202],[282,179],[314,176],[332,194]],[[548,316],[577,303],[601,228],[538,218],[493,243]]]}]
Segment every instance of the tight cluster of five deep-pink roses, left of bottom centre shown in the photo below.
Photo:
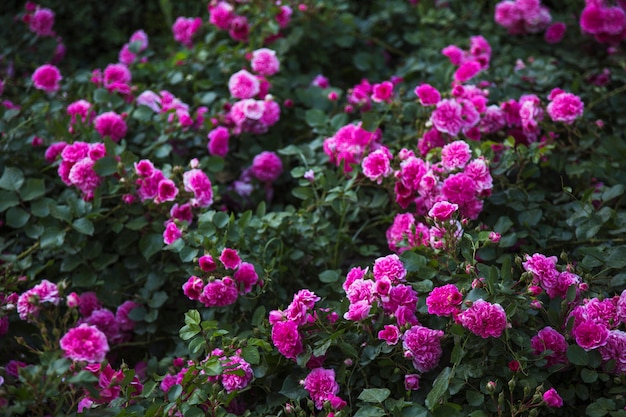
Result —
[{"label": "tight cluster of five deep-pink roses, left of bottom centre", "polygon": [[[218,264],[210,254],[201,256],[199,267],[211,276],[206,284],[200,277],[189,277],[183,284],[183,292],[190,300],[200,301],[206,307],[223,307],[233,304],[239,295],[248,294],[259,283],[254,265],[242,262],[235,249],[224,248],[219,260],[225,270],[234,270],[232,277],[227,276],[226,271],[217,271]],[[215,275],[222,278],[215,278]]]}]

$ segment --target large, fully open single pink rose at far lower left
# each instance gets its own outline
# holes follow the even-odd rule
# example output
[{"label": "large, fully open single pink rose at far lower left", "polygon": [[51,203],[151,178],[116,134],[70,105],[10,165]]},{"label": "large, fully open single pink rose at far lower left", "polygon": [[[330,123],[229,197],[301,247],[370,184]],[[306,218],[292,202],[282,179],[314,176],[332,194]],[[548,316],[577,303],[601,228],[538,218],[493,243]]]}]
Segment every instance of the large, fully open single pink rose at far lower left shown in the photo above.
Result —
[{"label": "large, fully open single pink rose at far lower left", "polygon": [[109,351],[104,333],[86,323],[68,330],[59,343],[65,356],[73,361],[102,362]]}]

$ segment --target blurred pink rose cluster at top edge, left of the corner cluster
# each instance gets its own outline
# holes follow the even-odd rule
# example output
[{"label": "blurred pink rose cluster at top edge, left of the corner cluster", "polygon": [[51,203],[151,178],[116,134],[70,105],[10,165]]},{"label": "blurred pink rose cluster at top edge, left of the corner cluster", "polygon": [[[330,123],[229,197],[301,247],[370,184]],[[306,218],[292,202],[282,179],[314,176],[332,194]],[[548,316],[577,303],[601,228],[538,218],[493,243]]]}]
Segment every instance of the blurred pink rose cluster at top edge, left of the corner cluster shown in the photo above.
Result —
[{"label": "blurred pink rose cluster at top edge, left of the corner cluster", "polygon": [[524,35],[545,30],[552,16],[541,0],[504,0],[496,4],[495,20],[510,34]]}]

